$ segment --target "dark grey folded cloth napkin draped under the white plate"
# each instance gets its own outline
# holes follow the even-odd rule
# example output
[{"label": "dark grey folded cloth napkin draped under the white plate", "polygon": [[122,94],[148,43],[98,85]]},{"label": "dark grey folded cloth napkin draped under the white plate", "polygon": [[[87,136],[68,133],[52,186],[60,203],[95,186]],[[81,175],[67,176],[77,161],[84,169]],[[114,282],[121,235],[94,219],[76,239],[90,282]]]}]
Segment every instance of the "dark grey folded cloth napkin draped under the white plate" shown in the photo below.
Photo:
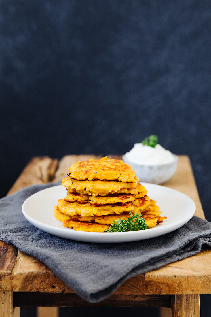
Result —
[{"label": "dark grey folded cloth napkin draped under the white plate", "polygon": [[24,218],[22,204],[57,184],[32,185],[0,199],[0,240],[40,259],[86,301],[101,301],[129,277],[197,254],[203,244],[211,246],[211,223],[198,217],[164,236],[130,243],[85,243],[50,235]]}]

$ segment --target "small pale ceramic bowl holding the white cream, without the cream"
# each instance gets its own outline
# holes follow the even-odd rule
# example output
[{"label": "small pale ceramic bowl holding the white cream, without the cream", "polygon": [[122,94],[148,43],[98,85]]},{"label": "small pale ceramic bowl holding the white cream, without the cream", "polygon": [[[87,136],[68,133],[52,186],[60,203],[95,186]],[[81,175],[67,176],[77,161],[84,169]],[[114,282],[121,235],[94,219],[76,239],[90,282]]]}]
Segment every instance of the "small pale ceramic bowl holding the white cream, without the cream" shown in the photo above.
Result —
[{"label": "small pale ceramic bowl holding the white cream, without the cream", "polygon": [[127,153],[123,155],[122,159],[126,164],[132,166],[136,172],[140,182],[152,183],[152,184],[163,184],[169,180],[176,172],[178,156],[173,154],[175,160],[167,164],[159,165],[141,165],[135,164],[130,161],[127,157]]}]

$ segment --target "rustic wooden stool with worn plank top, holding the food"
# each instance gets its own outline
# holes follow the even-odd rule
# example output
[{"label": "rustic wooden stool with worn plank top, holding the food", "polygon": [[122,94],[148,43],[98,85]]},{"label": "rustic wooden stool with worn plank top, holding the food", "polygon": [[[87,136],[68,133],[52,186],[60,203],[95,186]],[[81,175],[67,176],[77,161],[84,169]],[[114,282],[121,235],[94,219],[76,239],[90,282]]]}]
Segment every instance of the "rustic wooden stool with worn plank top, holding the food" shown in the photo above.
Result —
[{"label": "rustic wooden stool with worn plank top, holding the food", "polygon": [[[56,182],[67,175],[67,167],[72,163],[94,157],[68,155],[60,161],[35,157],[22,171],[8,195],[31,184]],[[164,185],[191,197],[196,204],[195,215],[204,218],[187,156],[179,157],[176,174]],[[211,250],[206,247],[196,256],[132,277],[106,300],[90,304],[77,296],[45,264],[13,245],[0,242],[0,317],[19,316],[20,309],[16,307],[38,307],[39,317],[56,317],[57,307],[64,306],[169,307],[161,308],[162,317],[171,314],[173,317],[199,317],[199,294],[210,293]]]}]

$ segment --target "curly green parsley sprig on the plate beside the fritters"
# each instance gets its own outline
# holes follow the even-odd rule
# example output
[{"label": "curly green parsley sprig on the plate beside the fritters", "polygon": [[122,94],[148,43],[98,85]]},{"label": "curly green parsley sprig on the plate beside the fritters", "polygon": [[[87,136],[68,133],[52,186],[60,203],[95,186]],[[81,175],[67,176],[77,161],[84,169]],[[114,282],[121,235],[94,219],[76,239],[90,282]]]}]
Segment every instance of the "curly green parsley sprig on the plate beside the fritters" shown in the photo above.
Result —
[{"label": "curly green parsley sprig on the plate beside the fritters", "polygon": [[119,218],[114,220],[108,230],[105,232],[126,232],[126,231],[137,231],[149,229],[148,225],[145,223],[145,220],[138,213],[129,212],[130,218],[124,220]]}]

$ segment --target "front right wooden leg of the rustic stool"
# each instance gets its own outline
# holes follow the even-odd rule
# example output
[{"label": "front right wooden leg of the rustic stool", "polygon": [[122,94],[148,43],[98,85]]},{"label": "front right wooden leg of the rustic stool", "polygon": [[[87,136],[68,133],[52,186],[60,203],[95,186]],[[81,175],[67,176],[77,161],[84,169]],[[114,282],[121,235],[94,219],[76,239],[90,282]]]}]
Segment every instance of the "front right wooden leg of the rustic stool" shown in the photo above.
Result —
[{"label": "front right wooden leg of the rustic stool", "polygon": [[172,317],[200,317],[199,294],[171,295]]}]

